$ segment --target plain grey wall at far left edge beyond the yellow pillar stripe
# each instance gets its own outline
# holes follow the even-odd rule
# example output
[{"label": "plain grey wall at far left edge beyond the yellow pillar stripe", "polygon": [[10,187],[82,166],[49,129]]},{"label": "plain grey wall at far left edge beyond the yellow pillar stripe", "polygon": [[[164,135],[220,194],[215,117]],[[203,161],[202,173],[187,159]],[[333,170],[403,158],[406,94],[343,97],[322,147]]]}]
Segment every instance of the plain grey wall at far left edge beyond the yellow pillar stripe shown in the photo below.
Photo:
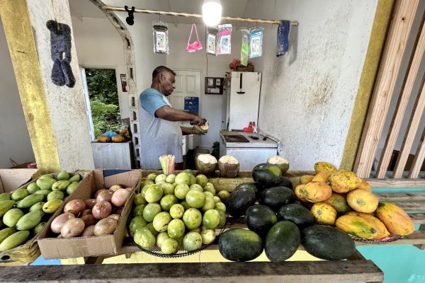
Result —
[{"label": "plain grey wall at far left edge beyond the yellow pillar stripe", "polygon": [[0,168],[35,161],[0,19]]}]

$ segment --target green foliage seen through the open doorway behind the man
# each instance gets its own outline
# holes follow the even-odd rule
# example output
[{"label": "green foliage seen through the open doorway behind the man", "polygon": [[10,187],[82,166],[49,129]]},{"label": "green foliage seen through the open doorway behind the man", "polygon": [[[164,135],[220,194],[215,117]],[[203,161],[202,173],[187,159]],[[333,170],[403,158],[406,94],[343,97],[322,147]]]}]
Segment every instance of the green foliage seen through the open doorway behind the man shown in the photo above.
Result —
[{"label": "green foliage seen through the open doorway behind the man", "polygon": [[86,69],[94,135],[120,129],[120,108],[114,69]]}]

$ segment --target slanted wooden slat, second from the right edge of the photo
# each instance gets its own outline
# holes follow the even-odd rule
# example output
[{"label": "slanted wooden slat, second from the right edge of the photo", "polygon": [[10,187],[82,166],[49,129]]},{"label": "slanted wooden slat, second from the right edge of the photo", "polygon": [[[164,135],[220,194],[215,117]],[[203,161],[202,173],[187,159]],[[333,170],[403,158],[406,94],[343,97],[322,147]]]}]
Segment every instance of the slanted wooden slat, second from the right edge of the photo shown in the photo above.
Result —
[{"label": "slanted wooden slat, second from the right edge of the photo", "polygon": [[[425,76],[424,76],[425,77]],[[407,126],[407,134],[404,136],[402,149],[400,149],[400,153],[397,157],[397,161],[395,163],[394,168],[394,178],[401,178],[404,166],[406,166],[407,157],[409,157],[410,149],[412,149],[412,144],[414,141],[414,137],[416,136],[416,132],[418,131],[419,124],[421,123],[421,117],[424,113],[425,108],[425,81],[422,80],[422,91],[416,99],[412,117],[410,117],[409,125]]]}]

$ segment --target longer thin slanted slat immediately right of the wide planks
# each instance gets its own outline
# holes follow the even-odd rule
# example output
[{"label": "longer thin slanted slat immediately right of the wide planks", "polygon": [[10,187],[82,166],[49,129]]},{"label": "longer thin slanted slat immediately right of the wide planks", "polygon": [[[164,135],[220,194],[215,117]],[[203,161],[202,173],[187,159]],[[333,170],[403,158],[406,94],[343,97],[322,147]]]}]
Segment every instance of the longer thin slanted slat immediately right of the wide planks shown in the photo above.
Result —
[{"label": "longer thin slanted slat immediately right of the wide planks", "polygon": [[419,36],[419,40],[416,42],[416,49],[414,50],[414,55],[409,67],[407,79],[404,83],[403,92],[402,95],[399,96],[399,99],[397,101],[395,115],[394,117],[392,117],[390,129],[388,131],[389,134],[385,141],[385,146],[382,149],[383,154],[378,163],[378,170],[376,171],[377,178],[385,178],[385,173],[387,173],[388,164],[390,164],[390,159],[392,156],[392,151],[394,150],[395,142],[397,141],[397,137],[399,136],[400,127],[402,127],[404,113],[406,112],[410,96],[412,96],[414,82],[416,80],[416,76],[418,75],[419,66],[421,64],[422,58],[424,57],[424,51],[425,25],[422,24],[422,30]]}]

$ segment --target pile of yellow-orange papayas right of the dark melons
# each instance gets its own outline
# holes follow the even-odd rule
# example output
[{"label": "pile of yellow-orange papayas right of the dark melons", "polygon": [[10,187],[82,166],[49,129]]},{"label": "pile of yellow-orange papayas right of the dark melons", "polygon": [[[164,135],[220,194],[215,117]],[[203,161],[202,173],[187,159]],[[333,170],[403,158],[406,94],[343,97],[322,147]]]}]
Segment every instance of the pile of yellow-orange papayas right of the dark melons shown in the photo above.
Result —
[{"label": "pile of yellow-orange papayas right of the dark melons", "polygon": [[294,191],[319,224],[369,240],[413,233],[409,215],[396,204],[379,202],[370,184],[355,173],[327,162],[315,163],[314,171],[316,175],[301,176]]}]

